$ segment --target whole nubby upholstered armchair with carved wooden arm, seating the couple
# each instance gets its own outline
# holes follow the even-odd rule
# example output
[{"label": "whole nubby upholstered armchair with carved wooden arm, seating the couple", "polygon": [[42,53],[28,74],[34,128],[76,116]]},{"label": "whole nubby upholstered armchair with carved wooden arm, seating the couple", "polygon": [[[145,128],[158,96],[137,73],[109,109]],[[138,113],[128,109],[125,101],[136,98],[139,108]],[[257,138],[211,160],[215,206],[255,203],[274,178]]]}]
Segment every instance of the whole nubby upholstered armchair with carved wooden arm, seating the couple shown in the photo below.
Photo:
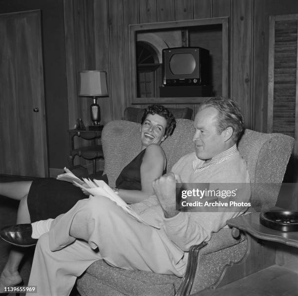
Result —
[{"label": "whole nubby upholstered armchair with carved wooden arm, seating the couple", "polygon": [[[114,186],[121,169],[140,150],[140,144],[137,144],[139,127],[138,123],[122,120],[111,121],[104,127],[104,173],[108,175],[111,186]],[[168,171],[179,158],[193,151],[193,133],[193,121],[177,120],[175,132],[162,144],[168,159]],[[279,189],[270,188],[260,195],[258,184],[282,182],[293,140],[282,134],[246,130],[239,142],[238,147],[242,157],[247,160],[252,181],[251,199],[253,204],[261,209],[275,205]],[[207,243],[191,248],[183,279],[115,268],[103,260],[98,260],[77,280],[77,290],[82,296],[173,296],[175,293],[180,296],[189,295],[217,286],[223,278],[226,266],[241,261],[249,247],[245,235],[241,234],[236,239],[230,229],[223,228],[214,233]],[[225,280],[225,283],[236,280],[237,276],[239,278],[243,274],[245,272],[237,271]]]}]

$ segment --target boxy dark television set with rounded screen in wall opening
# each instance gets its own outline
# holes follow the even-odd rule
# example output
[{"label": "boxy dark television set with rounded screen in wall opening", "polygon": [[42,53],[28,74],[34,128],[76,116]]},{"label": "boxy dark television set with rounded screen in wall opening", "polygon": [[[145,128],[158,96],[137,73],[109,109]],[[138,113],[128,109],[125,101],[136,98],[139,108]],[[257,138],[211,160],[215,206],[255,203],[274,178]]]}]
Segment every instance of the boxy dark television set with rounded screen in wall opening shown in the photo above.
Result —
[{"label": "boxy dark television set with rounded screen in wall opening", "polygon": [[163,49],[163,85],[208,85],[209,51],[202,47]]}]

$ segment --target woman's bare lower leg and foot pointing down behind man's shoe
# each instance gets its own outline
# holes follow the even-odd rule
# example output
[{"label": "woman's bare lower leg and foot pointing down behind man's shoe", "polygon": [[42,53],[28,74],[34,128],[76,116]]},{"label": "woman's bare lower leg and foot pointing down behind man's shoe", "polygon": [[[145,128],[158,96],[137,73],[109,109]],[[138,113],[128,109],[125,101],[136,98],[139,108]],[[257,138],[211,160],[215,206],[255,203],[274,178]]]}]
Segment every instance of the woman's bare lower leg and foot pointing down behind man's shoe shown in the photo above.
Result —
[{"label": "woman's bare lower leg and foot pointing down behind man's shoe", "polygon": [[[17,224],[21,223],[31,223],[27,205],[27,196],[21,198],[19,202]],[[8,255],[8,260],[0,275],[0,293],[4,293],[5,286],[7,287],[18,284],[22,280],[21,276],[19,275],[19,264],[23,257],[24,252],[20,248],[11,249]]]}]

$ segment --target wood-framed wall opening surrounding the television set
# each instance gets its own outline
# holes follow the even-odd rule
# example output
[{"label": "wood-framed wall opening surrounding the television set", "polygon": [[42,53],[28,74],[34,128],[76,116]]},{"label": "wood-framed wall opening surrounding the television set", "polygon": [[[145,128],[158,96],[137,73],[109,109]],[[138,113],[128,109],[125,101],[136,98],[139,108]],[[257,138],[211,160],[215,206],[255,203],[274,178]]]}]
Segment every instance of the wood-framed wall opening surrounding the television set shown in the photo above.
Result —
[{"label": "wood-framed wall opening surrounding the television set", "polygon": [[209,51],[210,96],[229,95],[228,18],[130,25],[130,94],[132,103],[197,103],[204,97],[160,96],[162,50],[202,47]]}]

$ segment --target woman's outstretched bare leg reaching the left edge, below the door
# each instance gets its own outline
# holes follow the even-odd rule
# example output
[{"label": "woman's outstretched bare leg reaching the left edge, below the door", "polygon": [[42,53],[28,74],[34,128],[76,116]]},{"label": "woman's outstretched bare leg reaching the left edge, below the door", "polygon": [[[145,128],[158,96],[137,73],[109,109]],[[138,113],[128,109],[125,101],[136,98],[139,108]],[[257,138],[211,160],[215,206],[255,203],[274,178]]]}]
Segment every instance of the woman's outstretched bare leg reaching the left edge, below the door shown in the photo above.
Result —
[{"label": "woman's outstretched bare leg reaching the left edge, below the door", "polygon": [[28,195],[31,184],[32,181],[1,182],[0,195],[21,200]]}]

